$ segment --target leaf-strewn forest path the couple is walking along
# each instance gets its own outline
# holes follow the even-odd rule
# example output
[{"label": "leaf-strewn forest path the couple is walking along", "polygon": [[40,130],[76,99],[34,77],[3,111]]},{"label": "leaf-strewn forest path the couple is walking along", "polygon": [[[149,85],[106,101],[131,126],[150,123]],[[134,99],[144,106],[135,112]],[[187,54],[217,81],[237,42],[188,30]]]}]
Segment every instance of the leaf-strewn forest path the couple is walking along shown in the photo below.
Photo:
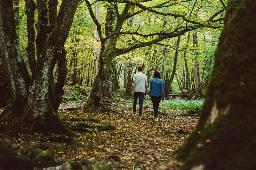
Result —
[{"label": "leaf-strewn forest path the couple is walking along", "polygon": [[[125,107],[126,109],[123,109]],[[130,107],[130,106],[128,106]],[[161,110],[160,106],[160,110]],[[127,105],[119,105],[118,110],[122,115],[112,112],[91,112],[91,116],[100,118],[99,123],[90,124],[113,124],[116,130],[98,131],[93,129],[92,133],[79,133],[78,141],[84,144],[70,155],[70,159],[77,160],[86,158],[92,163],[103,165],[110,161],[115,169],[154,169],[161,162],[168,159],[172,152],[184,144],[188,134],[172,133],[179,129],[192,132],[196,126],[198,117],[177,116],[177,113],[169,110],[166,116],[159,115],[159,122],[153,119],[153,113],[142,113],[143,119],[133,115]],[[153,111],[152,108],[143,111]],[[80,114],[78,114],[80,113]],[[87,114],[81,113],[79,109],[74,111],[59,111],[62,118],[79,117],[86,118]],[[87,137],[87,139],[86,139]],[[113,161],[108,157],[118,156],[119,161]],[[60,157],[60,155],[56,155]],[[117,158],[117,159],[119,159]]]}]

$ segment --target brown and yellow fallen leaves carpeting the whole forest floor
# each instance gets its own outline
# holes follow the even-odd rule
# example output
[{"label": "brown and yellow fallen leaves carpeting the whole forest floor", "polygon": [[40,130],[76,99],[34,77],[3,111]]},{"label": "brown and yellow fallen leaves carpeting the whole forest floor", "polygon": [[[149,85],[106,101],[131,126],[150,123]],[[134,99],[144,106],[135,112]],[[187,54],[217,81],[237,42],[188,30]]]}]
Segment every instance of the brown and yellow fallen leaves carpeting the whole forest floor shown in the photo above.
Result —
[{"label": "brown and yellow fallen leaves carpeting the whole forest floor", "polygon": [[[46,151],[52,153],[58,160],[76,160],[82,163],[83,159],[88,159],[98,166],[110,164],[112,169],[156,168],[185,143],[189,133],[194,130],[198,117],[177,116],[182,110],[173,110],[161,104],[159,111],[164,115],[159,115],[159,122],[155,122],[153,108],[150,102],[146,101],[144,105],[148,107],[143,109],[143,119],[139,119],[137,114],[132,114],[131,102],[131,100],[130,103],[120,102],[118,106],[112,108],[118,110],[121,115],[97,109],[85,113],[83,107],[74,110],[60,109],[58,115],[63,120],[71,117],[87,118],[89,114],[99,117],[100,122],[85,123],[112,124],[116,129],[99,131],[95,128],[91,129],[92,133],[76,132],[80,137],[73,142],[47,141],[49,147]],[[66,107],[70,106],[70,103],[66,105]],[[61,108],[64,107],[65,104],[62,104]],[[180,129],[184,129],[187,133],[176,133]],[[22,134],[18,139],[12,140],[1,132],[0,136],[0,141],[9,138],[18,150],[26,145],[40,144],[44,137],[38,133]]]}]

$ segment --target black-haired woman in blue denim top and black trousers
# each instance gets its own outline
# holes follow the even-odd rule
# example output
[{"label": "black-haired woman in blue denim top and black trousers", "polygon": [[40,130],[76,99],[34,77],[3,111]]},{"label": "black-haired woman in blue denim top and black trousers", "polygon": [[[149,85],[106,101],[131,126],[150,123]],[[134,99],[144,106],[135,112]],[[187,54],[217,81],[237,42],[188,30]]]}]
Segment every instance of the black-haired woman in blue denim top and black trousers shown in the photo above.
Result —
[{"label": "black-haired woman in blue denim top and black trousers", "polygon": [[160,73],[158,71],[155,71],[153,78],[150,80],[150,89],[149,89],[149,95],[151,97],[151,100],[153,102],[153,108],[154,108],[154,120],[158,122],[157,113],[158,113],[158,107],[160,100],[164,100],[164,82],[162,79],[160,79]]}]

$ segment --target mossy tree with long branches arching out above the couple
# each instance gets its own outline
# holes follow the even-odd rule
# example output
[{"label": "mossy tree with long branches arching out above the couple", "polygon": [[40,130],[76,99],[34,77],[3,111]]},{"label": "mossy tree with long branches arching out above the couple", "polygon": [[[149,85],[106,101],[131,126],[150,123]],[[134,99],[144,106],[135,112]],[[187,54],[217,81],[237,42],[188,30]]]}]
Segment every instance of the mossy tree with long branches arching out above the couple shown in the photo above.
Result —
[{"label": "mossy tree with long branches arching out above the couple", "polygon": [[[116,21],[114,23],[112,32],[108,32],[109,34],[104,37],[102,33],[103,32],[102,24],[100,24],[99,20],[95,17],[95,14],[93,13],[93,10],[92,10],[92,4],[94,3],[91,4],[89,0],[85,0],[85,3],[87,4],[90,15],[97,26],[97,31],[100,39],[99,72],[95,78],[94,84],[92,86],[91,94],[90,94],[90,99],[88,100],[88,104],[94,104],[94,105],[102,105],[102,103],[104,102],[109,102],[109,99],[110,99],[109,96],[111,96],[111,94],[109,94],[109,90],[108,90],[110,86],[110,82],[108,81],[108,72],[110,70],[111,61],[113,60],[113,58],[115,58],[118,55],[128,53],[137,48],[151,46],[167,38],[173,38],[173,37],[178,37],[180,35],[184,35],[186,32],[189,32],[201,27],[216,27],[216,28],[221,27],[218,25],[214,25],[214,23],[221,21],[223,19],[221,17],[218,18],[217,16],[225,10],[224,8],[217,9],[204,22],[202,22],[196,19],[193,20],[191,19],[193,17],[191,18],[186,17],[181,13],[162,12],[161,10],[156,10],[156,9],[162,9],[166,7],[172,7],[174,5],[180,5],[182,3],[186,3],[189,1],[192,2],[192,0],[185,0],[180,2],[166,1],[164,3],[158,4],[155,6],[150,6],[150,7],[147,7],[146,5],[143,4],[145,2],[148,2],[147,0],[146,1],[100,0],[100,1],[108,2],[112,6],[113,10],[116,13]],[[131,9],[132,5],[134,5],[136,9],[132,13],[129,13],[128,11]],[[168,8],[168,10],[170,9]],[[144,11],[148,11],[148,12],[151,12],[152,14],[157,14],[160,16],[173,17],[176,19],[177,25],[175,25],[176,27],[172,29],[167,29],[166,31],[148,33],[148,34],[140,33],[139,32],[140,26],[138,26],[135,32],[126,32],[122,30],[122,26],[126,19],[131,18],[132,16],[135,16],[135,15],[138,15]],[[191,10],[191,12],[192,11],[193,9]],[[136,37],[153,37],[153,39],[150,41],[139,41],[135,37],[133,38],[133,41],[131,41],[129,45],[126,43],[126,47],[118,48],[117,42],[119,41],[119,37],[121,35],[134,35]]]}]

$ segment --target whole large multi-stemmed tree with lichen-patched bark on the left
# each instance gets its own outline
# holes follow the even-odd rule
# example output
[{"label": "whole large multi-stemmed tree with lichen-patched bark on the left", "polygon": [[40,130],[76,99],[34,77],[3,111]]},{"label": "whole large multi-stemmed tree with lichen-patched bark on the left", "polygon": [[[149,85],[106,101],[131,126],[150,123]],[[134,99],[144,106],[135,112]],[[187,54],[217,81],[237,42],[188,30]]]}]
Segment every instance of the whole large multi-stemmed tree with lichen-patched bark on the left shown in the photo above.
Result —
[{"label": "whole large multi-stemmed tree with lichen-patched bark on the left", "polygon": [[[0,24],[0,57],[11,88],[0,122],[7,122],[8,128],[15,130],[22,120],[24,127],[31,124],[36,131],[76,136],[63,125],[56,111],[67,74],[64,43],[80,0],[62,0],[58,12],[57,0],[47,2],[37,0],[35,4],[33,0],[26,0],[26,49],[32,72],[30,78],[17,41],[12,1],[0,1],[0,23],[4,23]],[[38,21],[35,35],[36,8]],[[55,84],[52,71],[57,61],[59,71]]]}]

